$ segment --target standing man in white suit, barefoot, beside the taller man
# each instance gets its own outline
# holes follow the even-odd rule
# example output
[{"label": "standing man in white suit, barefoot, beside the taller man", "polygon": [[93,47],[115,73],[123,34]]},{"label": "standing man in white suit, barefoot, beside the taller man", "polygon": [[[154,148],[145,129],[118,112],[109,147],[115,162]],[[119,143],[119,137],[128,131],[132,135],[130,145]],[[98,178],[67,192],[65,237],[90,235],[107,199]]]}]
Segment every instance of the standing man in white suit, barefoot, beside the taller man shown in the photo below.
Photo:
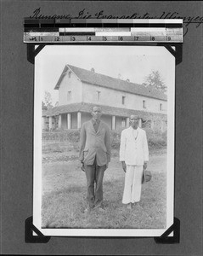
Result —
[{"label": "standing man in white suit, barefoot, beside the taller man", "polygon": [[121,132],[120,161],[125,172],[122,203],[132,209],[140,201],[143,169],[149,161],[146,132],[138,127],[138,115],[131,115],[130,127]]}]

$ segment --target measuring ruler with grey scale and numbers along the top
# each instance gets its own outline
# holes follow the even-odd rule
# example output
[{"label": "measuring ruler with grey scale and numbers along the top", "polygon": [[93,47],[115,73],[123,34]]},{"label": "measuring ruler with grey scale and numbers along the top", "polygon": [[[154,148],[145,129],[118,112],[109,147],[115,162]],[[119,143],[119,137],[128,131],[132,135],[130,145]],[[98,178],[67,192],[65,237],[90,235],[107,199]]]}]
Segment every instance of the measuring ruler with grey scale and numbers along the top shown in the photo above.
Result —
[{"label": "measuring ruler with grey scale and numbers along the top", "polygon": [[183,20],[26,19],[24,43],[183,43]]}]

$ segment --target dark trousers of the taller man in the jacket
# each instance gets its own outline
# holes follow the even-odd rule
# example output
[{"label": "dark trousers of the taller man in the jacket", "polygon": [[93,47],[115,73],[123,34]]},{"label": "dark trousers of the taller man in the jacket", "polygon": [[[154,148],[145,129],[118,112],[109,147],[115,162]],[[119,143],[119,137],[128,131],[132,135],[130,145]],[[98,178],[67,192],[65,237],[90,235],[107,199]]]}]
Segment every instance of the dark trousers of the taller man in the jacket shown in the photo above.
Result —
[{"label": "dark trousers of the taller man in the jacket", "polygon": [[[87,177],[87,201],[89,207],[100,206],[103,201],[103,177],[106,166],[98,166],[96,158],[93,166],[85,165]],[[95,183],[95,186],[94,186]]]}]

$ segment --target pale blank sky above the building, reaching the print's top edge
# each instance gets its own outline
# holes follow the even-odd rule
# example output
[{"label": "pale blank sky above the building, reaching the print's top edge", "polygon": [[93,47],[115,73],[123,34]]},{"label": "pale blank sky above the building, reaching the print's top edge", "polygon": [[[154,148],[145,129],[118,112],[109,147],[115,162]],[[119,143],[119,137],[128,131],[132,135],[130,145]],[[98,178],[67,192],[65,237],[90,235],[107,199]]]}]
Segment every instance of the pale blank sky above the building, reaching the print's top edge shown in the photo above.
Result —
[{"label": "pale blank sky above the building, reaching the print's top edge", "polygon": [[42,93],[51,93],[53,105],[58,102],[59,92],[54,90],[66,64],[94,68],[113,78],[121,78],[136,84],[152,71],[159,71],[167,87],[174,81],[175,58],[161,46],[110,46],[110,45],[47,45],[35,60],[35,85]]}]

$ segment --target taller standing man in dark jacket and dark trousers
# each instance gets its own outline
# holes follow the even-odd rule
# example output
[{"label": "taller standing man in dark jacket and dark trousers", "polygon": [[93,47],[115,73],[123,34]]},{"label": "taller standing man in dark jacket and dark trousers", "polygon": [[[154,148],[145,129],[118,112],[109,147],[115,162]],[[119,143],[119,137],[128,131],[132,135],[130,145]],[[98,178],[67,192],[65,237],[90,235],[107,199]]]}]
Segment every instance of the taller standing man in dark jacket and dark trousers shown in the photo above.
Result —
[{"label": "taller standing man in dark jacket and dark trousers", "polygon": [[110,162],[110,128],[101,121],[101,115],[101,108],[93,107],[93,118],[81,129],[79,159],[87,177],[87,211],[98,207],[104,210],[103,177]]}]

